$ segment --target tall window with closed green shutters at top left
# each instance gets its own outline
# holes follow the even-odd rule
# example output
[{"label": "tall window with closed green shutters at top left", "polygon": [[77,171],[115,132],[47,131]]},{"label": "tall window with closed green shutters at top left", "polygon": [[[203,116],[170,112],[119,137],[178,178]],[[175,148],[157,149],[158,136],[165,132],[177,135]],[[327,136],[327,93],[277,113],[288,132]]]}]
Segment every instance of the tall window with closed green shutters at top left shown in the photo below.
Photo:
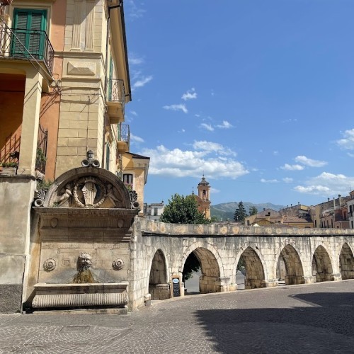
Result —
[{"label": "tall window with closed green shutters at top left", "polygon": [[13,36],[11,43],[11,55],[30,57],[28,54],[30,52],[33,57],[43,59],[45,57],[47,11],[15,8],[13,18],[13,33],[16,37]]}]

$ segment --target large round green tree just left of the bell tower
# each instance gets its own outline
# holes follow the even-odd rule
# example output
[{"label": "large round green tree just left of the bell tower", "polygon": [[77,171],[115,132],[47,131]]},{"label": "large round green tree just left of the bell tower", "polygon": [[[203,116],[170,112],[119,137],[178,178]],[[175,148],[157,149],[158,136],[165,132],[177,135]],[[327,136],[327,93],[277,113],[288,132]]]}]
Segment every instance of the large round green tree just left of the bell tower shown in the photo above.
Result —
[{"label": "large round green tree just left of the bell tower", "polygon": [[171,224],[210,224],[204,214],[198,211],[198,205],[193,195],[175,194],[164,207],[159,221]]}]

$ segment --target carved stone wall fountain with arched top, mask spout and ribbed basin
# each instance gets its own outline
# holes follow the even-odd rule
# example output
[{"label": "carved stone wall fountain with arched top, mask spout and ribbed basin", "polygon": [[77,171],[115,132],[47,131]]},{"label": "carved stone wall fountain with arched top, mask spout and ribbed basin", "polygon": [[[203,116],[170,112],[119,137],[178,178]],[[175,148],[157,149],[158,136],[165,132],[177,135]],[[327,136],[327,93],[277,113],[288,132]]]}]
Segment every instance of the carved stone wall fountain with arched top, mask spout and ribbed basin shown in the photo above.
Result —
[{"label": "carved stone wall fountain with arched top, mask spout and ribbed basin", "polygon": [[[33,310],[127,312],[130,227],[137,195],[88,152],[34,202],[37,258],[31,261]],[[30,282],[29,282],[30,284]]]}]

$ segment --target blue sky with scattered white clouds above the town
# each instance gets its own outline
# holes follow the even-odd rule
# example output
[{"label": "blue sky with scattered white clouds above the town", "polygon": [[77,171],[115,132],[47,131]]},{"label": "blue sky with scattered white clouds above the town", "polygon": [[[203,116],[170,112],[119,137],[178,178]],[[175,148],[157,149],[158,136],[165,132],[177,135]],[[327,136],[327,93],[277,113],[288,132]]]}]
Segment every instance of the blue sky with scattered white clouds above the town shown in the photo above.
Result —
[{"label": "blue sky with scattered white clouds above the town", "polygon": [[316,205],[354,189],[353,0],[125,0],[144,202]]}]

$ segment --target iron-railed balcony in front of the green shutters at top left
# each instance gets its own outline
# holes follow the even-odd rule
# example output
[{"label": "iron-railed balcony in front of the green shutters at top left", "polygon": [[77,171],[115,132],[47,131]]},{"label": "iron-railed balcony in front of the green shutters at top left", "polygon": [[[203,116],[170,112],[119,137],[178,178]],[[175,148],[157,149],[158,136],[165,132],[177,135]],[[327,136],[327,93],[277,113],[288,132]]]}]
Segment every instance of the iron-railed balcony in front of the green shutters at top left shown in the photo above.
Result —
[{"label": "iron-railed balcony in front of the green shutters at top left", "polygon": [[52,75],[54,50],[44,30],[0,28],[0,59],[38,60]]}]

